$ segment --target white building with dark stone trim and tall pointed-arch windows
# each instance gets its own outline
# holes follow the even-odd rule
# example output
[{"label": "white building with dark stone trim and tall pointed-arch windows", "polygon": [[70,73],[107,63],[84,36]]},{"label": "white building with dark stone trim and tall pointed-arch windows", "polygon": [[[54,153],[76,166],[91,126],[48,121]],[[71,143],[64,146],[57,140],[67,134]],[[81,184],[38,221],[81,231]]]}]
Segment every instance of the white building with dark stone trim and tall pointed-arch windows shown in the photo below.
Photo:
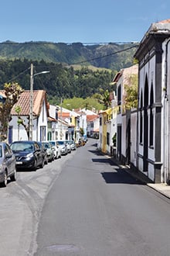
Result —
[{"label": "white building with dark stone trim and tall pointed-arch windows", "polygon": [[154,22],[134,54],[139,64],[138,169],[170,182],[170,19]]}]

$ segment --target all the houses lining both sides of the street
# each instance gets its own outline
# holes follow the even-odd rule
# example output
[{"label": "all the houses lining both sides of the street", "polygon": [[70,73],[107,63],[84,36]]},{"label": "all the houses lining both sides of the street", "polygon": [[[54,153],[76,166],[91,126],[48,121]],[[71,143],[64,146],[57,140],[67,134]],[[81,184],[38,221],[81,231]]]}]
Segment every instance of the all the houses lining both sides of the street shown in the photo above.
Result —
[{"label": "all the houses lining both sides of the street", "polygon": [[[33,140],[80,140],[99,137],[97,147],[114,154],[152,182],[170,183],[170,19],[152,23],[134,54],[138,64],[117,72],[114,83],[117,97],[110,109],[100,114],[87,109],[63,109],[51,106],[45,91],[33,92]],[[138,74],[138,107],[124,108],[125,85],[131,74]],[[28,139],[19,125],[15,107],[28,123],[30,92],[22,93],[12,108],[8,142]],[[3,96],[0,93],[0,99]],[[83,131],[83,132],[82,132]],[[115,142],[116,141],[116,142]]]}]

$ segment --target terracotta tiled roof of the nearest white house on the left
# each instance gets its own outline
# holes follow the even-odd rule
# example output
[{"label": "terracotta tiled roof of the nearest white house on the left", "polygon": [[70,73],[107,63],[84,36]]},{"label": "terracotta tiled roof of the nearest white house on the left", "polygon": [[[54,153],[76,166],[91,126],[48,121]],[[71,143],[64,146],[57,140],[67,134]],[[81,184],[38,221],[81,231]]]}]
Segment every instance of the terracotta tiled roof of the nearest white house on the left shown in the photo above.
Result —
[{"label": "terracotta tiled roof of the nearest white house on the left", "polygon": [[[48,111],[48,103],[46,100],[46,91],[43,90],[36,90],[33,91],[33,115],[39,116],[41,109],[42,109],[42,103],[45,100],[46,102],[46,109],[47,109],[47,116],[49,116]],[[19,113],[20,116],[28,116],[30,112],[30,91],[24,91],[20,95],[19,101],[15,103],[15,105],[12,107],[11,114],[12,116],[17,116],[17,112],[15,112],[15,107],[20,106],[21,112]]]}]

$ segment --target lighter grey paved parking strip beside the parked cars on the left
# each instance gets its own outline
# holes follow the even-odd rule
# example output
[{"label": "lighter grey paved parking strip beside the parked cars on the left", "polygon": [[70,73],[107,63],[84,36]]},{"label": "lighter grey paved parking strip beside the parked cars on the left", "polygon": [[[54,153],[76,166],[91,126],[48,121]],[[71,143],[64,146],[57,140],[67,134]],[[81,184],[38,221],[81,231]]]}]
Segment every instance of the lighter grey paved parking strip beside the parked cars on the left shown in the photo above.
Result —
[{"label": "lighter grey paved parking strip beside the parked cars on the left", "polygon": [[0,188],[0,256],[28,256],[36,251],[36,230],[42,206],[66,157],[38,168],[17,172],[17,181]]}]

